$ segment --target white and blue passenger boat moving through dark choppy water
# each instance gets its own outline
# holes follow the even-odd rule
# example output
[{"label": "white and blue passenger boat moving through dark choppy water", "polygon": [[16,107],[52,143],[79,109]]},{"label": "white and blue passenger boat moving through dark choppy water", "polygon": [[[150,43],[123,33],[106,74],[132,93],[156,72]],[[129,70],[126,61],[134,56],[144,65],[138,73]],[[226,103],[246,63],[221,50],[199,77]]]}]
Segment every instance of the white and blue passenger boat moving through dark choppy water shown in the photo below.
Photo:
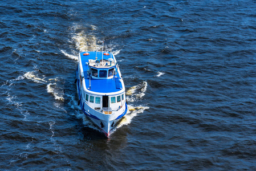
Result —
[{"label": "white and blue passenger boat moving through dark choppy water", "polygon": [[76,86],[83,113],[109,137],[127,113],[124,82],[112,52],[80,52]]}]

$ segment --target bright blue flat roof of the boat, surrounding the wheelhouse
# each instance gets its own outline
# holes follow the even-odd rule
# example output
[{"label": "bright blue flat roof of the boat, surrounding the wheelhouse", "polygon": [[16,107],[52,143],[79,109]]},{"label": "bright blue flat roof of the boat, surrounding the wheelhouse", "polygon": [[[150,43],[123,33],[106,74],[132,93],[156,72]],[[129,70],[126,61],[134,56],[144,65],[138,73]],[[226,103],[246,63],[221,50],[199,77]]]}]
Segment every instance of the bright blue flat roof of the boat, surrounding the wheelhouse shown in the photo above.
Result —
[{"label": "bright blue flat roof of the boat, surrounding the wheelhouse", "polygon": [[[89,59],[95,60],[96,52],[88,52],[90,55],[84,55],[85,53],[86,52],[80,52],[80,56],[81,56],[81,62],[82,62],[83,71],[84,71],[84,80],[86,83],[86,88],[89,88],[90,78],[87,78],[87,75],[86,75],[89,65],[86,63],[89,62]],[[103,55],[103,59],[108,60],[109,58],[111,58],[111,55],[112,54]],[[102,59],[102,52],[97,52],[97,59],[99,59],[99,60]],[[111,67],[111,68],[113,68],[113,67]],[[93,79],[93,78],[91,78],[90,91],[98,92],[98,93],[111,93],[111,92],[120,91],[121,89],[123,89],[123,87],[121,85],[121,82],[119,82],[119,78],[120,78],[119,73],[117,73],[116,76],[117,76],[117,78],[113,78],[113,79]]]}]

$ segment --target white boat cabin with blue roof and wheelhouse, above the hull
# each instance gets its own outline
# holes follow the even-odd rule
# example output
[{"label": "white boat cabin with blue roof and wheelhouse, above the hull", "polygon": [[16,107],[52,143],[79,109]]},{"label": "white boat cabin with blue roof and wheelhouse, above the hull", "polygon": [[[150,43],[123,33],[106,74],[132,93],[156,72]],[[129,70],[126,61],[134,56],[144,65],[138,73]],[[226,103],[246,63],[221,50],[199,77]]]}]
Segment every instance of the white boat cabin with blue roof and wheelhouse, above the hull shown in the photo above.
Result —
[{"label": "white boat cabin with blue roof and wheelhouse, above the hull", "polygon": [[101,53],[81,53],[83,70],[87,71],[87,79],[80,78],[86,86],[86,91],[82,91],[82,97],[95,111],[111,114],[125,105],[125,92],[118,65],[113,59],[115,57],[109,58],[109,54],[104,53],[99,60],[97,56],[101,56]]}]

